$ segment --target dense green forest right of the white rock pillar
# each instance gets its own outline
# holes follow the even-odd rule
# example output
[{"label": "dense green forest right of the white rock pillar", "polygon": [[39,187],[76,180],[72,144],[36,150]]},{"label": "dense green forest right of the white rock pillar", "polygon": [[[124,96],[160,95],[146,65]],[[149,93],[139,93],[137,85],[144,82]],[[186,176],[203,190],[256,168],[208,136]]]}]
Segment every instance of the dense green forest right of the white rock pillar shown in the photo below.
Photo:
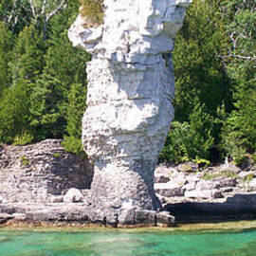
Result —
[{"label": "dense green forest right of the white rock pillar", "polygon": [[160,159],[255,159],[256,2],[193,0],[174,69],[175,120]]}]

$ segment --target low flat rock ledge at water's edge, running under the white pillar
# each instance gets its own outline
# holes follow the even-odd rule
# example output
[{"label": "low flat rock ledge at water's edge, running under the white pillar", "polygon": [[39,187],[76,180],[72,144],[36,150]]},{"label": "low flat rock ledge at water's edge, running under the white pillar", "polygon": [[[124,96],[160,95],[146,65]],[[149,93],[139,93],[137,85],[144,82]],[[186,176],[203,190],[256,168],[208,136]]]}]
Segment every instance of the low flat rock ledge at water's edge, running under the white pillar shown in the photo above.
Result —
[{"label": "low flat rock ledge at water's edge, running under the white pillar", "polygon": [[[9,221],[24,223],[80,223],[82,225],[99,225],[114,228],[126,227],[172,227],[175,225],[174,216],[168,211],[154,210],[117,210],[106,216],[97,215],[97,209],[91,209],[82,203],[54,205],[0,205],[0,224]],[[97,217],[98,216],[98,217]]]}]

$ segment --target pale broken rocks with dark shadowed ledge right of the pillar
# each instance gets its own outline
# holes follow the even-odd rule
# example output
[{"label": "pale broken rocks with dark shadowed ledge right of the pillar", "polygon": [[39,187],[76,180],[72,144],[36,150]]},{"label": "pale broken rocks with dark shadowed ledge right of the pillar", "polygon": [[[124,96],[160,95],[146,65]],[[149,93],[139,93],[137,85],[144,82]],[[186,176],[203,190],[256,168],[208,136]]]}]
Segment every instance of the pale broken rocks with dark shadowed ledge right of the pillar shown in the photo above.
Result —
[{"label": "pale broken rocks with dark shadowed ledge right of the pillar", "polygon": [[200,170],[186,163],[155,170],[155,192],[177,223],[255,219],[255,183],[255,166],[242,170],[223,164]]}]

